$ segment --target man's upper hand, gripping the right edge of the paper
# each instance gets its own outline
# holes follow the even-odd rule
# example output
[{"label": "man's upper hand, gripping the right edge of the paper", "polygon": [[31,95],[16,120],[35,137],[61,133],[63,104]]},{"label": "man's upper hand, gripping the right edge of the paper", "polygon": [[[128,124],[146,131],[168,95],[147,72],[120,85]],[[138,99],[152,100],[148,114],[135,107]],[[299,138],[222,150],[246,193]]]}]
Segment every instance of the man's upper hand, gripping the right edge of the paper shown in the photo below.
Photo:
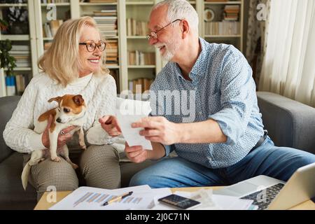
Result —
[{"label": "man's upper hand, gripping the right edge of the paper", "polygon": [[180,142],[178,124],[169,122],[165,117],[142,118],[132,123],[132,127],[143,127],[139,134],[160,144],[172,145]]}]

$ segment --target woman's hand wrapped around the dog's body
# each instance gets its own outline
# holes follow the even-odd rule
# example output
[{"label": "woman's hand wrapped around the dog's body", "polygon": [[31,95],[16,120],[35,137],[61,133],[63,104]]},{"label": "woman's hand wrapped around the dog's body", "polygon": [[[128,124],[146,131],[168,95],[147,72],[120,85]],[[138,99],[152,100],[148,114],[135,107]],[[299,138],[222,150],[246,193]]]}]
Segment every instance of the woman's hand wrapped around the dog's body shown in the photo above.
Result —
[{"label": "woman's hand wrapped around the dog's body", "polygon": [[[50,148],[50,141],[49,141],[49,128],[52,124],[52,116],[50,115],[48,118],[48,123],[45,128],[45,131],[43,132],[43,136],[41,137],[41,141],[43,142],[43,145],[46,148]],[[58,141],[57,141],[57,148],[61,148],[64,146],[69,140],[72,139],[73,134],[69,133],[71,132],[76,126],[69,126],[66,127],[64,130],[62,130],[62,134],[58,134]]]}]

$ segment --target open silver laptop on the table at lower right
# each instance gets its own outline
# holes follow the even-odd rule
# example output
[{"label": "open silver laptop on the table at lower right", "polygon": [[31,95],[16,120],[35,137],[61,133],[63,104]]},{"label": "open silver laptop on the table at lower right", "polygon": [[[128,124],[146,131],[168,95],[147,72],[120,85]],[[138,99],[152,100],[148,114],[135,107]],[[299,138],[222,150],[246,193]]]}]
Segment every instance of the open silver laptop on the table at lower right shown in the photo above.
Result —
[{"label": "open silver laptop on the table at lower right", "polygon": [[297,169],[288,182],[260,175],[214,190],[214,194],[253,200],[258,210],[290,209],[315,197],[315,162]]}]

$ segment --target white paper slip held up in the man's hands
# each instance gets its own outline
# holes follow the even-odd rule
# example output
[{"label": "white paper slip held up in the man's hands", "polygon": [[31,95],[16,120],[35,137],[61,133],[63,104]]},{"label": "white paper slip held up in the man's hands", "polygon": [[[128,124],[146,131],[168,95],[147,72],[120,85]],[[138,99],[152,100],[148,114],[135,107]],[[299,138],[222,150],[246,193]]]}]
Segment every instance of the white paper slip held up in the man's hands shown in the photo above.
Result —
[{"label": "white paper slip held up in the man's hands", "polygon": [[145,115],[131,115],[120,110],[116,111],[116,115],[121,131],[123,132],[123,136],[129,146],[142,146],[146,150],[153,150],[151,141],[148,141],[145,137],[139,134],[139,132],[143,129],[131,127],[132,123],[139,121],[141,118],[145,118]]}]

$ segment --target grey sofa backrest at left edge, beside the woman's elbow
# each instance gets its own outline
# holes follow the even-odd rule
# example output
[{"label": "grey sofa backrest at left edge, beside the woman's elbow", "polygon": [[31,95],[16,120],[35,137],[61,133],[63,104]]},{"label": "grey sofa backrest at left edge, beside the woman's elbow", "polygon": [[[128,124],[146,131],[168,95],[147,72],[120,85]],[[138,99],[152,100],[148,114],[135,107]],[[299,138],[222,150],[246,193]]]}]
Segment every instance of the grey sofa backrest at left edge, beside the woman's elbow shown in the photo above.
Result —
[{"label": "grey sofa backrest at left edge, beside the woman's elbow", "polygon": [[0,162],[13,153],[13,151],[8,148],[6,143],[3,141],[3,131],[6,127],[6,123],[8,123],[8,120],[10,120],[13,111],[18,105],[19,100],[19,96],[0,98]]}]

